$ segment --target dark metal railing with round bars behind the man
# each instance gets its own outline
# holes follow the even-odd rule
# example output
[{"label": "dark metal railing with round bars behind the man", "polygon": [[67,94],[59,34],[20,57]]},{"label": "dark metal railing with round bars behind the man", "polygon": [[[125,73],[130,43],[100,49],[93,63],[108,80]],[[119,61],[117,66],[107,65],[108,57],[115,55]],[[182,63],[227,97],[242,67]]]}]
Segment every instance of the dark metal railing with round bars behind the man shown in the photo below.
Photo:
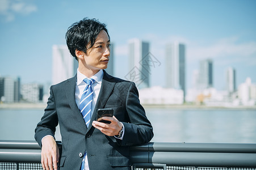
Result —
[{"label": "dark metal railing with round bars behind the man", "polygon": [[[256,144],[150,142],[130,151],[133,169],[256,169]],[[0,169],[41,169],[40,161],[35,141],[0,141]]]}]

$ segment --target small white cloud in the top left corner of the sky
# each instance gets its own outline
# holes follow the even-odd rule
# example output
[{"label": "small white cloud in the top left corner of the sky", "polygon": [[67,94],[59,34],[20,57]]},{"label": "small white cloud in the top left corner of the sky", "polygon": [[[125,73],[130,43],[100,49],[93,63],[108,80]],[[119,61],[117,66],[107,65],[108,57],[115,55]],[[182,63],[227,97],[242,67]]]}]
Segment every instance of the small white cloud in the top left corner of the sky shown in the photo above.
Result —
[{"label": "small white cloud in the top left corner of the sky", "polygon": [[1,0],[0,1],[0,15],[2,15],[7,22],[15,19],[15,15],[28,15],[37,11],[37,7],[27,0]]}]

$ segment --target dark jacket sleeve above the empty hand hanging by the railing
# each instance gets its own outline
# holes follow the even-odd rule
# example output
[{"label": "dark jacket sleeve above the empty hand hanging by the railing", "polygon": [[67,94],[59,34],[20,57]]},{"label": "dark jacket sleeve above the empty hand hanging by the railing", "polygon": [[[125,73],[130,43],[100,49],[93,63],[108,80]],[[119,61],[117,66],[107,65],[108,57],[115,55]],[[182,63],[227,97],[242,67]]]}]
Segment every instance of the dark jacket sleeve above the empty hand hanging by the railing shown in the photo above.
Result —
[{"label": "dark jacket sleeve above the empty hand hanging by the railing", "polygon": [[54,137],[56,126],[58,125],[58,116],[56,112],[56,103],[53,95],[52,86],[50,88],[50,97],[47,102],[47,108],[44,110],[44,115],[35,129],[35,139],[41,147],[41,139],[46,135]]}]

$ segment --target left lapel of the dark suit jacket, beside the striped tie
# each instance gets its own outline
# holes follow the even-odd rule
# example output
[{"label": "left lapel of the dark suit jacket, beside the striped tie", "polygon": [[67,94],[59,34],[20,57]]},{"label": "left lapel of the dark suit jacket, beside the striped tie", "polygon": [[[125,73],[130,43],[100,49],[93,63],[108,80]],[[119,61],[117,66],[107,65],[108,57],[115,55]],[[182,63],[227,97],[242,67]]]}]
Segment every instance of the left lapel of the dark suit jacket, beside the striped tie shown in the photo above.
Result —
[{"label": "left lapel of the dark suit jacket, beside the striped tie", "polygon": [[79,108],[77,107],[77,103],[75,103],[75,83],[76,82],[77,82],[77,75],[75,75],[73,78],[68,79],[65,86],[66,99],[68,100],[70,108],[72,109],[72,112],[69,114],[74,114],[73,117],[77,118],[75,123],[81,125],[82,131],[86,131],[87,126],[85,124],[85,121],[83,120],[83,116],[79,111]]}]

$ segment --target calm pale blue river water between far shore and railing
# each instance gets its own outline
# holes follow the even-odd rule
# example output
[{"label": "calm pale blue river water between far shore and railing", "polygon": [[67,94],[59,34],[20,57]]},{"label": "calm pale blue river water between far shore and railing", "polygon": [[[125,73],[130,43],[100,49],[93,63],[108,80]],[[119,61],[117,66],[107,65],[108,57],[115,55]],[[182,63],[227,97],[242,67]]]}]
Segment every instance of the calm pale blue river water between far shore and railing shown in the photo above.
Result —
[{"label": "calm pale blue river water between far shore and railing", "polygon": [[[255,109],[145,108],[152,142],[256,143]],[[34,140],[43,109],[0,109],[0,140]],[[61,140],[60,131],[56,139]]]}]

